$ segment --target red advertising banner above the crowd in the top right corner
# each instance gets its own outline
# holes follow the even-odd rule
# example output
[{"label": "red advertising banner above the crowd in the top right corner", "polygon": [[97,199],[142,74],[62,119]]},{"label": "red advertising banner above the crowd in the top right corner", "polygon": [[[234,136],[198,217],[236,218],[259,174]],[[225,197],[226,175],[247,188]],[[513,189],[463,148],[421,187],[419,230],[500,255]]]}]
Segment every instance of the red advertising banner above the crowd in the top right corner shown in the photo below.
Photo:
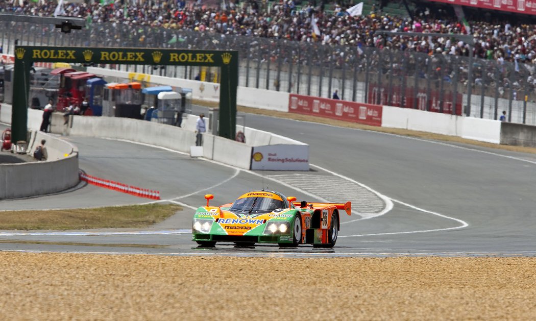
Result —
[{"label": "red advertising banner above the crowd in the top right corner", "polygon": [[468,5],[475,8],[501,10],[523,14],[536,14],[536,1],[526,0],[430,0],[448,4]]}]

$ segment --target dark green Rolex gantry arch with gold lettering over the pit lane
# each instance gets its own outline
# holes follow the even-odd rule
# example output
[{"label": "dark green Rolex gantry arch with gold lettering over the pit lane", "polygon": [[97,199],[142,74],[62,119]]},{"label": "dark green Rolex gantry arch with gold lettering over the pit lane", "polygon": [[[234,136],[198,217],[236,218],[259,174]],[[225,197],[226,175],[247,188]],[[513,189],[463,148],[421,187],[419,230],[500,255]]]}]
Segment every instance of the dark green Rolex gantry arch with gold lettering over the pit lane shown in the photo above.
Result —
[{"label": "dark green Rolex gantry arch with gold lettering over the pit lane", "polygon": [[238,51],[160,48],[16,46],[12,141],[26,140],[30,69],[34,62],[213,66],[221,69],[219,135],[235,139]]}]

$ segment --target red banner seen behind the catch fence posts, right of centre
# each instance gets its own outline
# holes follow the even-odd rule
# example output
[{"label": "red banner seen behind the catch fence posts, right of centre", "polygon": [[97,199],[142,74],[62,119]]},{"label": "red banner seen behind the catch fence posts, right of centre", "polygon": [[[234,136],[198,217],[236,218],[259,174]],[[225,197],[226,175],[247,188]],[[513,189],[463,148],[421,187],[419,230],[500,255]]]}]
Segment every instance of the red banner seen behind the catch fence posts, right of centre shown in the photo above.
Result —
[{"label": "red banner seen behind the catch fence posts, right of centre", "polygon": [[[430,96],[428,97],[426,88],[418,89],[417,95],[414,96],[413,88],[406,88],[406,93],[402,94],[402,88],[399,86],[392,87],[392,99],[390,106],[413,108],[413,103],[416,100],[416,108],[420,110],[426,110],[427,106],[429,111],[440,113],[441,111],[441,95],[440,92],[430,90]],[[384,86],[377,86],[376,84],[369,85],[368,101],[373,103],[386,105],[389,103],[388,88]],[[460,93],[456,94],[456,112],[455,114],[461,115],[461,101],[463,96]],[[452,105],[454,101],[454,94],[452,92],[443,93],[443,114],[452,114]]]}]

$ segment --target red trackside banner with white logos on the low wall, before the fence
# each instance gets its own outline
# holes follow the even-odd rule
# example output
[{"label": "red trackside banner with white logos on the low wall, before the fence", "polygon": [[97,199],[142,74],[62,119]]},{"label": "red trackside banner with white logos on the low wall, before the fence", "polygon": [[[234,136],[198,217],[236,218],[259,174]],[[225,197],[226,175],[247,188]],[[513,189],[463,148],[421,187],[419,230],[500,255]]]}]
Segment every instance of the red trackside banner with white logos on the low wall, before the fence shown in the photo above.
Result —
[{"label": "red trackside banner with white logos on the low wall, before the fence", "polygon": [[382,126],[383,106],[370,103],[291,94],[288,111],[295,114],[333,118],[371,126]]}]

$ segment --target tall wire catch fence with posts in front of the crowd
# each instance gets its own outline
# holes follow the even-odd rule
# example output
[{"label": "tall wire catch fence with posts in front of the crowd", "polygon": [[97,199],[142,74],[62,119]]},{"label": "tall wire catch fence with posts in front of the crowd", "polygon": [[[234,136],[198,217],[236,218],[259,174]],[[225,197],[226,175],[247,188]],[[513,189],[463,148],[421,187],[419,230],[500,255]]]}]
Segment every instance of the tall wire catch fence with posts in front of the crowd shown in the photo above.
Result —
[{"label": "tall wire catch fence with posts in front of the crowd", "polygon": [[[423,36],[427,40],[427,36]],[[0,44],[239,50],[239,86],[536,124],[534,66],[319,42],[112,23],[64,34],[52,25],[2,22]],[[472,68],[470,67],[472,64]],[[124,71],[219,81],[218,69],[110,65]],[[472,72],[470,75],[469,72]],[[470,81],[471,80],[471,81]],[[470,101],[470,103],[469,103]]]}]

